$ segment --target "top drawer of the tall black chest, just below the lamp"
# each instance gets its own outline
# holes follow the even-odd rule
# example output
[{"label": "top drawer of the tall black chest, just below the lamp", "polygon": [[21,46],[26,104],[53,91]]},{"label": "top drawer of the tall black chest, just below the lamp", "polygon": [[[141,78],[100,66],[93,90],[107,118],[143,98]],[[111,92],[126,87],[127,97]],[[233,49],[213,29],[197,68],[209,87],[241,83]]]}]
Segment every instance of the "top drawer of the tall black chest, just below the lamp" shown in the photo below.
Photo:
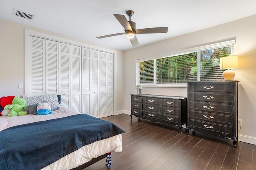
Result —
[{"label": "top drawer of the tall black chest, just below the lamp", "polygon": [[233,83],[228,82],[188,82],[190,91],[233,92]]}]

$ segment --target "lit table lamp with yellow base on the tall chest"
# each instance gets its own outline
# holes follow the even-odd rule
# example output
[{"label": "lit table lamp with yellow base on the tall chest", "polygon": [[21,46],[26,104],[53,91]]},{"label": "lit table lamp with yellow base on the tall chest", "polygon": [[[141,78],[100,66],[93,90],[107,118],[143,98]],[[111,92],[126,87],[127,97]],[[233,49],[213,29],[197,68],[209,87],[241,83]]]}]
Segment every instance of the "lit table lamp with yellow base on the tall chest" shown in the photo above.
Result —
[{"label": "lit table lamp with yellow base on the tall chest", "polygon": [[238,56],[228,56],[220,58],[220,69],[228,69],[223,72],[223,78],[226,80],[232,80],[235,76],[235,72],[230,68],[238,68]]}]

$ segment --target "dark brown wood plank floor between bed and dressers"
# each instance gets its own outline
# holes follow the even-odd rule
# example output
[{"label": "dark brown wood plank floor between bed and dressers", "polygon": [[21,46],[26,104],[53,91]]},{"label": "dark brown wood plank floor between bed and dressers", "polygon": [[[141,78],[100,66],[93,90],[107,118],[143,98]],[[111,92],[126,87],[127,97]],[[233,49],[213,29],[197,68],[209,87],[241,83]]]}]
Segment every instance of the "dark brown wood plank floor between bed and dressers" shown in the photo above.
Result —
[{"label": "dark brown wood plank floor between bed and dressers", "polygon": [[[102,118],[122,127],[122,152],[112,151],[111,170],[256,170],[256,145],[186,135],[178,127],[160,125],[130,115]],[[106,170],[106,159],[85,170]]]}]

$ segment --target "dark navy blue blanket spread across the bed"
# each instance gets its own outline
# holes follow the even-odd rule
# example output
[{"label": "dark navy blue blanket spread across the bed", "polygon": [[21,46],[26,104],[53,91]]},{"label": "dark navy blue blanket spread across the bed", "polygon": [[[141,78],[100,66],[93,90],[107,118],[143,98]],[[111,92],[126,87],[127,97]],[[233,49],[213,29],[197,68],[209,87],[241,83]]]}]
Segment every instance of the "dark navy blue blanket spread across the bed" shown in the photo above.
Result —
[{"label": "dark navy blue blanket spread across the bed", "polygon": [[0,132],[0,169],[41,169],[84,145],[124,132],[86,114],[10,127]]}]

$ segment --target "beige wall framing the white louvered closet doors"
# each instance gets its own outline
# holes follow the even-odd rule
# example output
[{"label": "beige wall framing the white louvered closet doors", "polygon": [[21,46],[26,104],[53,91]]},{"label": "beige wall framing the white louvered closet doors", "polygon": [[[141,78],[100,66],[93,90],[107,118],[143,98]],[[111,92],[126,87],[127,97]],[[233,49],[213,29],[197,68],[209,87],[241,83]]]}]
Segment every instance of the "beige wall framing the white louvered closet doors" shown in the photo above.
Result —
[{"label": "beige wall framing the white louvered closet doors", "polygon": [[[18,88],[18,83],[24,84],[24,29],[30,29],[46,33],[80,43],[86,43],[97,47],[117,51],[117,99],[116,110],[123,109],[123,58],[124,52],[89,42],[65,37],[57,33],[20,25],[18,23],[0,19],[0,97],[20,96],[24,94],[24,88]],[[26,84],[24,84],[26,86]]]}]

